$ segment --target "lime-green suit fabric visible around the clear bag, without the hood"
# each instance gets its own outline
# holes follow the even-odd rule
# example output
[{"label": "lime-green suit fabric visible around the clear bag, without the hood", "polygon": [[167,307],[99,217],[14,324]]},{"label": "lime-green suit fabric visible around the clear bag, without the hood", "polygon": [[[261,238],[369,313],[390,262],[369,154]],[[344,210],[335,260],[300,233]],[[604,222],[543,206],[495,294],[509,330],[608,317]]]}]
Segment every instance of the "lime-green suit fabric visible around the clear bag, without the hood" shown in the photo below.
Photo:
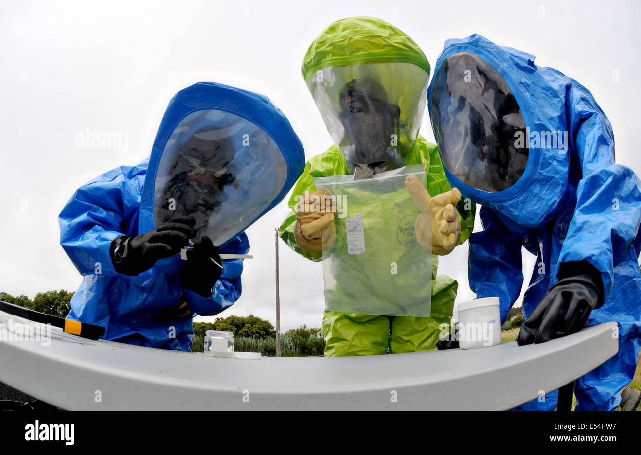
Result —
[{"label": "lime-green suit fabric visible around the clear bag, without the hood", "polygon": [[[406,154],[406,164],[423,164],[429,195],[434,196],[451,189],[445,178],[438,147],[417,136],[412,149]],[[329,147],[325,153],[310,158],[303,174],[298,179],[288,205],[292,213],[283,221],[279,235],[289,247],[308,260],[321,261],[322,253],[308,252],[302,249],[294,238],[296,213],[294,208],[298,197],[304,192],[317,190],[313,178],[347,175],[345,158],[336,145]],[[474,228],[476,207],[469,201],[460,201],[458,210],[461,222],[461,236],[458,244],[469,238]],[[432,256],[432,297],[431,317],[387,317],[360,313],[342,313],[325,311],[323,333],[326,341],[326,356],[364,356],[392,354],[401,352],[429,351],[436,349],[440,339],[440,324],[449,324],[458,283],[449,276],[437,276],[438,256]],[[390,332],[391,324],[391,332]]]}]

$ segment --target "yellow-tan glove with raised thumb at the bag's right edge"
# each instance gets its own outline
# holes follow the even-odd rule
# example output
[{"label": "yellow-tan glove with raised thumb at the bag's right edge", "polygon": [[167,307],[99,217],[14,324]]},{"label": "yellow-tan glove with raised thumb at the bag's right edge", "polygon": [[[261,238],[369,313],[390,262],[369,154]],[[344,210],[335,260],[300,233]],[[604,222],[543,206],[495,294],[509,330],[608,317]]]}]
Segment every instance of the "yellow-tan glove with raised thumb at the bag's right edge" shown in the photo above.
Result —
[{"label": "yellow-tan glove with raised thumb at the bag's right edge", "polygon": [[461,222],[455,207],[461,199],[461,192],[452,188],[448,192],[429,197],[428,190],[415,176],[405,179],[405,187],[420,211],[414,222],[417,242],[438,256],[451,253],[461,235]]}]

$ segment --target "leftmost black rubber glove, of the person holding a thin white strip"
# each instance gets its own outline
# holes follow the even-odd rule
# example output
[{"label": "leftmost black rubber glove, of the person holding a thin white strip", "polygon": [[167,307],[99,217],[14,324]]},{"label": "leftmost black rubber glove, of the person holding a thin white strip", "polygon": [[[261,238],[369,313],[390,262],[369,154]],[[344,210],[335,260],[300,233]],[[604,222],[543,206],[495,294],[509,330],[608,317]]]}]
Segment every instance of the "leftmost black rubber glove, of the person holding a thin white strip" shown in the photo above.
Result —
[{"label": "leftmost black rubber glove, of the person holding a thin white strip", "polygon": [[112,242],[111,256],[116,272],[135,276],[151,269],[156,261],[178,254],[196,236],[196,220],[177,218],[135,237],[122,235]]}]

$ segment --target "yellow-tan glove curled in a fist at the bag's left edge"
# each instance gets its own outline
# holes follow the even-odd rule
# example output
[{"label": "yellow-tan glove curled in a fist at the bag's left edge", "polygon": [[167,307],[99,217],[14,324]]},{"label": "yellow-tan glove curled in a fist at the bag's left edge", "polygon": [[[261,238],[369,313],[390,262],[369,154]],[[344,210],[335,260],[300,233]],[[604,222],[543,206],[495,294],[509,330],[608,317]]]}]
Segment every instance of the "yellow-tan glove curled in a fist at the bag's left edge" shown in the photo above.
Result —
[{"label": "yellow-tan glove curled in a fist at the bag's left edge", "polygon": [[338,213],[338,208],[329,190],[304,192],[295,210],[294,238],[301,248],[309,252],[322,251],[322,231],[328,228],[325,246],[333,244],[336,238],[334,215]]}]

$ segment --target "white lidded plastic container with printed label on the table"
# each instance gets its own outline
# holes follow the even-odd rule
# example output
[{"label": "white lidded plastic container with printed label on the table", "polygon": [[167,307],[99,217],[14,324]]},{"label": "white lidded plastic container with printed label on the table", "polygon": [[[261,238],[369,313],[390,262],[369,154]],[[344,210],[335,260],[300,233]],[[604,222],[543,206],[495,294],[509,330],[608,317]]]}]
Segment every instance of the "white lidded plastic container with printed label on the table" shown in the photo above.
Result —
[{"label": "white lidded plastic container with printed label on the table", "polygon": [[458,345],[461,349],[501,343],[501,302],[485,297],[461,302],[458,308]]}]

